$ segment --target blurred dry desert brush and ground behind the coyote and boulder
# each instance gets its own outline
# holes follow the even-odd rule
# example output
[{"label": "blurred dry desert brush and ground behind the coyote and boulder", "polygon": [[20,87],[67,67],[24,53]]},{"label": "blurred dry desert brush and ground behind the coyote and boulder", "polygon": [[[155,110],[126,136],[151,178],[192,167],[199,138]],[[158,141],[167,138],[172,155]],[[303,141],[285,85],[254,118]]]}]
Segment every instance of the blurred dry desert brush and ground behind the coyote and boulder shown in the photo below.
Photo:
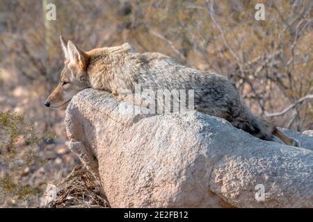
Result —
[{"label": "blurred dry desert brush and ground behind the coyote and boulder", "polygon": [[[56,21],[46,19],[48,3],[56,5]],[[255,19],[256,3],[264,3],[265,21]],[[35,196],[21,202],[19,189],[4,192],[2,182],[0,206],[39,205],[47,182],[58,182],[78,162],[67,149],[64,108],[43,105],[63,67],[60,34],[86,51],[129,42],[139,52],[222,74],[252,112],[303,131],[313,129],[312,10],[311,0],[0,0],[1,115],[17,121],[17,131],[31,124],[40,132],[33,143],[31,130],[6,140],[13,131],[0,121],[1,181],[10,176]],[[4,157],[12,144],[14,161],[24,163],[18,171]],[[26,151],[35,153],[29,162]]]}]

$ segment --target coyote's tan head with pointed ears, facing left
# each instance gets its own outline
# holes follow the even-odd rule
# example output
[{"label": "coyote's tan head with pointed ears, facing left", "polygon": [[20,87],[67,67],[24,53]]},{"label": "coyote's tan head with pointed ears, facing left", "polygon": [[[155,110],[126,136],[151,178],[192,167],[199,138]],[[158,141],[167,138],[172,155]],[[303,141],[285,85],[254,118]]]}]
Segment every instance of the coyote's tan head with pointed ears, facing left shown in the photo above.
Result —
[{"label": "coyote's tan head with pointed ears, facing left", "polygon": [[81,51],[71,41],[65,44],[62,36],[60,36],[60,40],[65,55],[65,66],[61,72],[58,86],[45,101],[45,105],[50,108],[65,105],[75,94],[90,86],[86,72],[89,62],[88,54]]}]

